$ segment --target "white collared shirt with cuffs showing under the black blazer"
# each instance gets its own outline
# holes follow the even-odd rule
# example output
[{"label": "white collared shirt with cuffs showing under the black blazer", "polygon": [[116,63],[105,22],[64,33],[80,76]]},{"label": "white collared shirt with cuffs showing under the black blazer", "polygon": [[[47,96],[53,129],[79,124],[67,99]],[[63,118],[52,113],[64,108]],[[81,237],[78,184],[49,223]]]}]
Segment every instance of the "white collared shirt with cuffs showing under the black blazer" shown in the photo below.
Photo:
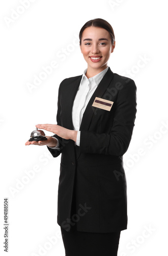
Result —
[{"label": "white collared shirt with cuffs showing under the black blazer", "polygon": [[[103,78],[107,70],[108,70],[108,67],[103,71],[101,71],[99,74],[90,78],[86,76],[87,69],[82,74],[82,78],[81,78],[81,81],[73,102],[73,106],[72,106],[73,130],[78,131],[77,139],[76,139],[77,146],[80,146],[79,129],[80,129],[83,113],[85,112],[85,109],[88,105],[90,98],[92,97],[93,93],[95,92],[96,88],[98,87],[98,84],[100,83],[101,79]],[[58,140],[57,146],[51,147],[51,148],[59,149],[59,140]]]}]

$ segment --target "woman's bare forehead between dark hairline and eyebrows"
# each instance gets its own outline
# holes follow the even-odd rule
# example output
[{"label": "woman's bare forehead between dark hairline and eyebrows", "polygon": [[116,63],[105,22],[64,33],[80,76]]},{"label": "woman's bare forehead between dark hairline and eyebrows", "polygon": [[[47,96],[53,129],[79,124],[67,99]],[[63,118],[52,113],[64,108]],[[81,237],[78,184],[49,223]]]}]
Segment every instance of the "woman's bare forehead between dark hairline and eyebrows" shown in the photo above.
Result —
[{"label": "woman's bare forehead between dark hairline and eyebrows", "polygon": [[110,39],[109,32],[106,29],[99,28],[99,27],[88,27],[82,33],[82,39],[84,37],[87,38],[98,38],[98,37],[106,37]]}]

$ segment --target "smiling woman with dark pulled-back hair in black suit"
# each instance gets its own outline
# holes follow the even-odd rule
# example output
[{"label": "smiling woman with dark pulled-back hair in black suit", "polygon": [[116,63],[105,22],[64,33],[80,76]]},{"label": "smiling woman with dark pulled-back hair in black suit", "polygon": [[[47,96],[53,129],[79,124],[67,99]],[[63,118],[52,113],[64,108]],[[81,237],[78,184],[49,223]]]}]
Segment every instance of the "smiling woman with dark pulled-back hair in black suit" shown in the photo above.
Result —
[{"label": "smiling woman with dark pulled-back hair in black suit", "polygon": [[107,65],[115,35],[106,20],[89,20],[79,39],[88,68],[61,82],[58,124],[36,125],[54,135],[25,144],[47,145],[53,157],[62,153],[58,224],[66,256],[115,256],[127,228],[123,154],[134,126],[136,86]]}]

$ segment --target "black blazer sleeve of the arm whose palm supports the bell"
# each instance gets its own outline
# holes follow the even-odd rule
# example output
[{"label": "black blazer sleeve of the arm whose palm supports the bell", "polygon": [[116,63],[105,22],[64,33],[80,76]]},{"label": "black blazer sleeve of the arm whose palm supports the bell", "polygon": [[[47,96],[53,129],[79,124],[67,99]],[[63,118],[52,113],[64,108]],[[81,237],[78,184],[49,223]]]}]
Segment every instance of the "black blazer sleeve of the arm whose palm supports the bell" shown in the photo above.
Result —
[{"label": "black blazer sleeve of the arm whose palm supports the bell", "polygon": [[[65,79],[64,79],[65,80]],[[60,119],[60,115],[61,115],[61,104],[60,104],[60,94],[61,94],[61,86],[62,86],[62,83],[64,82],[64,80],[60,83],[60,87],[59,87],[59,95],[58,95],[58,109],[57,109],[57,124],[58,125],[61,125],[61,119]],[[59,140],[59,148],[52,148],[52,147],[48,147],[48,150],[49,152],[51,153],[51,155],[53,157],[58,157],[62,150],[63,150],[63,147],[65,145],[65,143],[63,143],[63,140],[60,136],[58,136],[57,134],[54,134],[53,136],[51,137],[55,137]]]}]

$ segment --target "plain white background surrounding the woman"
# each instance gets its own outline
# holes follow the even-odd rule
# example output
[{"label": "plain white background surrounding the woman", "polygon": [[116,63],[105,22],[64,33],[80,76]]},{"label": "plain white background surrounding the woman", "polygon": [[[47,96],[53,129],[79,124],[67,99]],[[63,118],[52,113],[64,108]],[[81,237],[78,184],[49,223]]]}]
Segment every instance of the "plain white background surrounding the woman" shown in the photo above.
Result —
[{"label": "plain white background surrounding the woman", "polygon": [[[46,146],[24,143],[35,124],[56,123],[60,82],[81,75],[87,68],[77,45],[79,30],[98,17],[106,19],[115,31],[116,48],[108,66],[120,75],[129,76],[131,71],[137,86],[135,126],[124,155],[128,229],[121,232],[118,255],[165,255],[166,1],[32,0],[25,8],[21,0],[8,0],[1,1],[0,10],[1,255],[6,255],[4,198],[9,201],[8,255],[65,255],[57,224],[60,156],[53,158]],[[33,84],[35,76],[39,77],[53,60],[57,68],[30,90],[27,84]],[[34,177],[29,178],[27,173],[34,173]]]}]

